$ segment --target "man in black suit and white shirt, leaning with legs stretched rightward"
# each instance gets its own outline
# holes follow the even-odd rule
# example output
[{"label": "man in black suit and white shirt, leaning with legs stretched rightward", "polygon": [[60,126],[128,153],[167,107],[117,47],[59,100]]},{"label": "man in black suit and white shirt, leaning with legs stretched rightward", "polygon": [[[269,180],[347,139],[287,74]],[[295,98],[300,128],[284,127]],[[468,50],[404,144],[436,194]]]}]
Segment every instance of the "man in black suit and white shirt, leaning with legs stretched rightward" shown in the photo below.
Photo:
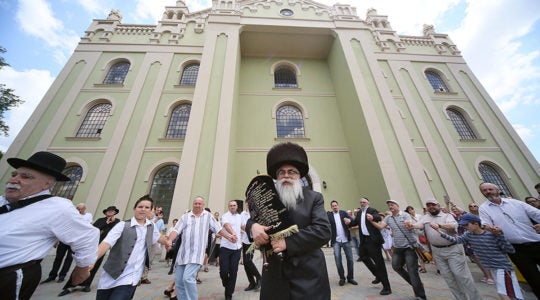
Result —
[{"label": "man in black suit and white shirt, leaning with legs stretched rightward", "polygon": [[373,223],[381,222],[381,217],[376,209],[369,207],[367,198],[360,198],[360,209],[361,211],[356,215],[356,219],[352,222],[348,222],[348,219],[346,219],[344,220],[345,224],[360,227],[360,258],[375,276],[375,280],[371,283],[382,283],[383,289],[379,294],[390,295],[392,289],[390,288],[388,273],[386,272],[386,265],[381,251],[384,239],[379,229],[373,225]]}]

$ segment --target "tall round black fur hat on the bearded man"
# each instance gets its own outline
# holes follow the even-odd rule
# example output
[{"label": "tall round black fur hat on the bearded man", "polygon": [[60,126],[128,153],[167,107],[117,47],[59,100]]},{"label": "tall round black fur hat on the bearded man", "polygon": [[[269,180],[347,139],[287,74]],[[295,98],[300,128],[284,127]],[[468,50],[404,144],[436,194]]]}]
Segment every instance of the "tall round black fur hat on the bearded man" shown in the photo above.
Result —
[{"label": "tall round black fur hat on the bearded man", "polygon": [[277,178],[277,170],[284,164],[295,166],[304,177],[309,172],[307,154],[300,145],[287,142],[274,145],[266,155],[266,171],[272,178]]}]

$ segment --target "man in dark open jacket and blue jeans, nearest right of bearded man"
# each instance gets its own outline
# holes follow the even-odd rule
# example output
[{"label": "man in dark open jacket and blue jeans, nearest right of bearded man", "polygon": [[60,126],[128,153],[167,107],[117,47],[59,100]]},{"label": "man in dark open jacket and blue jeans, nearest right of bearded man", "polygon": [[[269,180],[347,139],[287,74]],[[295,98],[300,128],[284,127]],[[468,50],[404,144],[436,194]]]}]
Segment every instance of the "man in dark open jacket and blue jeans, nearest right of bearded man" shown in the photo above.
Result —
[{"label": "man in dark open jacket and blue jeans, nearest right of bearded man", "polygon": [[358,282],[354,280],[354,259],[351,249],[351,233],[345,219],[349,222],[352,221],[351,217],[344,211],[339,209],[339,204],[336,200],[330,203],[332,211],[328,212],[328,221],[330,221],[330,227],[332,228],[332,240],[331,245],[334,247],[334,260],[336,261],[336,267],[339,274],[339,285],[345,285],[345,271],[343,270],[343,264],[341,263],[341,248],[345,252],[347,258],[347,282],[353,285],[358,285]]}]

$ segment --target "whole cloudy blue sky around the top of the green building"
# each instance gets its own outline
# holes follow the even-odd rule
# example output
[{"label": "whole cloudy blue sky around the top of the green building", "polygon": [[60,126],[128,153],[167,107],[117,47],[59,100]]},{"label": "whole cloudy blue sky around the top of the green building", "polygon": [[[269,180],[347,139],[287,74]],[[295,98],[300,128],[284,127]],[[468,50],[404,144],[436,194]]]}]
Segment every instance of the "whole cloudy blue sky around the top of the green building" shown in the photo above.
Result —
[{"label": "whole cloudy blue sky around the top of the green building", "polygon": [[[287,1],[287,0],[283,0]],[[186,0],[191,12],[210,0]],[[538,0],[319,0],[387,15],[399,34],[422,35],[423,24],[447,33],[537,160],[540,160],[540,1]],[[0,45],[11,67],[0,83],[25,104],[7,114],[6,151],[61,71],[92,19],[119,9],[122,23],[157,24],[175,0],[0,0]]]}]

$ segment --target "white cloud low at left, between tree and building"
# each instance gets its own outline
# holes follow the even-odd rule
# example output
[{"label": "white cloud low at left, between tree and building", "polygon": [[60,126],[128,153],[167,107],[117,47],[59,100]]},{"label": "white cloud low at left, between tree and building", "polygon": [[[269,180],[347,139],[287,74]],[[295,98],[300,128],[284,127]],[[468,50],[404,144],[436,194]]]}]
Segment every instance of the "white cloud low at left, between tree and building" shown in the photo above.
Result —
[{"label": "white cloud low at left, between tree and building", "polygon": [[4,121],[9,126],[9,136],[0,136],[0,151],[7,151],[53,81],[51,73],[46,70],[16,71],[11,67],[2,68],[0,82],[5,84],[7,88],[14,89],[13,93],[19,96],[24,103],[12,108],[5,115]]}]

